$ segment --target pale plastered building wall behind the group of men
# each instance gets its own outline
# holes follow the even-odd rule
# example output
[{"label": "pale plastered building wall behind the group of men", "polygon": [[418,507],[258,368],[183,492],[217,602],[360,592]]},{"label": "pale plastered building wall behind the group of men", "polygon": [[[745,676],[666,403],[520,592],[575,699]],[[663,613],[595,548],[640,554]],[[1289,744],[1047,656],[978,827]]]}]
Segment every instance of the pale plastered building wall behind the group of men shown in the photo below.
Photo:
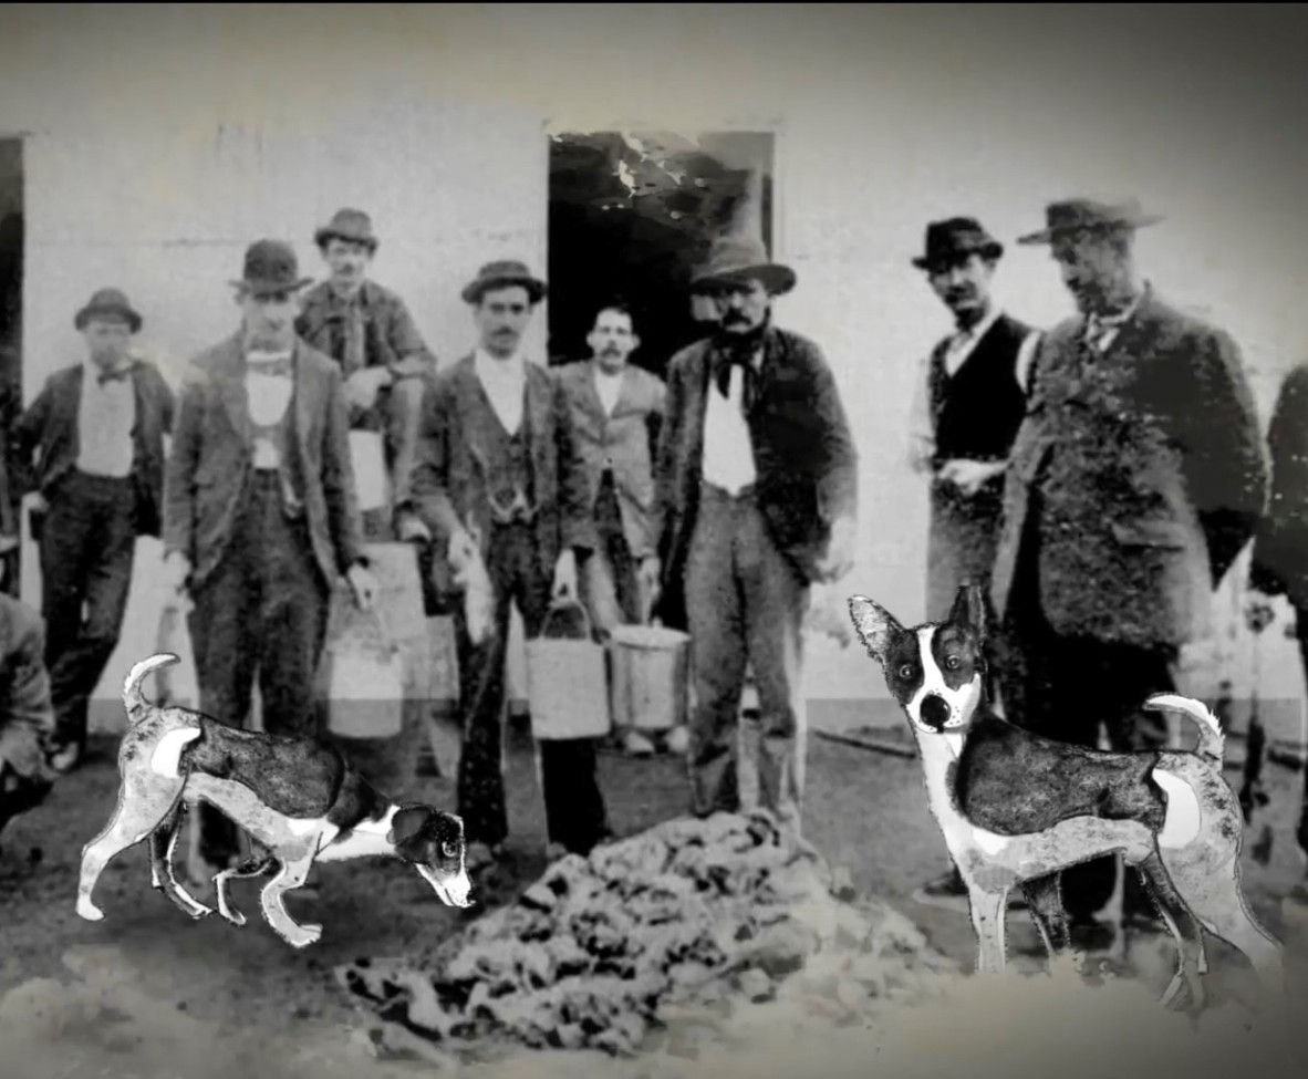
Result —
[{"label": "pale plastered building wall behind the group of men", "polygon": [[[862,454],[859,562],[816,599],[859,591],[917,619],[926,494],[903,447],[913,364],[947,330],[909,264],[926,221],[974,213],[1011,241],[1050,197],[1137,195],[1168,214],[1141,234],[1148,275],[1235,332],[1264,416],[1304,352],[1304,247],[1284,226],[1303,154],[1257,141],[1239,81],[1205,105],[1201,48],[1164,77],[1116,25],[1144,14],[1015,48],[1014,27],[1036,24],[985,7],[939,20],[774,5],[739,20],[715,5],[328,5],[311,22],[306,8],[256,7],[84,7],[71,26],[67,9],[8,5],[0,135],[29,133],[29,399],[78,358],[72,315],[93,289],[127,289],[143,351],[175,379],[235,328],[225,283],[246,243],[292,239],[317,273],[313,229],[347,204],[374,216],[375,276],[454,357],[472,343],[458,290],[476,265],[544,265],[547,131],[774,129],[776,250],[799,275],[778,319],[827,352]],[[1269,101],[1278,78],[1264,71]],[[1294,101],[1258,115],[1288,119]],[[1070,311],[1042,248],[1010,243],[998,292],[1036,323]],[[542,352],[543,332],[540,319]],[[157,556],[143,541],[109,698],[153,646]],[[1271,666],[1298,693],[1288,655]],[[814,664],[818,696],[883,693],[862,655],[819,649]]]}]

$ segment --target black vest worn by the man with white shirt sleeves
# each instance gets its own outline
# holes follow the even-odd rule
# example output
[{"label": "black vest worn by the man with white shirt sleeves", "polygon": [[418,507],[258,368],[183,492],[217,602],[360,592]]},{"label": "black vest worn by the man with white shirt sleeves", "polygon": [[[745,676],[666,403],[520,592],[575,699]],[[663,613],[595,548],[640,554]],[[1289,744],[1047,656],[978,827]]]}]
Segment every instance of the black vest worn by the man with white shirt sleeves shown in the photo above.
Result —
[{"label": "black vest worn by the man with white shirt sleeves", "polygon": [[1031,327],[999,315],[952,375],[947,340],[931,353],[931,416],[937,462],[1002,460],[1018,436],[1027,398],[1018,385],[1018,352]]}]

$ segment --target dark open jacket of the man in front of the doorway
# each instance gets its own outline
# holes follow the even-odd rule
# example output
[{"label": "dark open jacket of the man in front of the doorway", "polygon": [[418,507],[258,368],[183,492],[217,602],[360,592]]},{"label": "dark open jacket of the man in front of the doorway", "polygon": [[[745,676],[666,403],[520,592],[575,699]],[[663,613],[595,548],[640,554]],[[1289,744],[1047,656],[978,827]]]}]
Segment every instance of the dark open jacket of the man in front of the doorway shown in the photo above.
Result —
[{"label": "dark open jacket of the man in front of the doorway", "polygon": [[[770,327],[763,349],[753,407],[746,417],[759,505],[777,548],[812,581],[832,522],[857,510],[858,451],[836,381],[818,345]],[[655,527],[664,579],[658,615],[668,625],[685,621],[681,582],[698,511],[713,357],[713,341],[704,339],[681,349],[668,365],[655,470]]]}]

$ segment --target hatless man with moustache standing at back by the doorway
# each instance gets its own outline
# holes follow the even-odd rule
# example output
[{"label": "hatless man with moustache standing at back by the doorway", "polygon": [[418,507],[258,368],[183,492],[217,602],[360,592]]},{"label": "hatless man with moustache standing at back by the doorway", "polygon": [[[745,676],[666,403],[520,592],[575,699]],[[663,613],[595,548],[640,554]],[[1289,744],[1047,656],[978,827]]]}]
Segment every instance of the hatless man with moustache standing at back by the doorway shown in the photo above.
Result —
[{"label": "hatless man with moustache standing at back by the doorway", "polygon": [[[654,446],[663,419],[663,381],[628,362],[640,347],[632,313],[610,305],[595,315],[590,360],[559,370],[572,403],[577,446],[586,467],[595,549],[581,565],[581,587],[595,630],[646,621],[658,587]],[[640,731],[616,731],[627,752],[654,745]]]}]

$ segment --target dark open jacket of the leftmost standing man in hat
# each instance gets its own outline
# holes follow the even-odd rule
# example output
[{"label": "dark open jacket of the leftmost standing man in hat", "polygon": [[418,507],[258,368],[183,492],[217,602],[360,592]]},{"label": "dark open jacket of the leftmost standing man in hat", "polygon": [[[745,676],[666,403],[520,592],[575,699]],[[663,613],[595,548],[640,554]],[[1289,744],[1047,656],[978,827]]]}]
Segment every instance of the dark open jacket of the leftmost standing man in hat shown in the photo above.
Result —
[{"label": "dark open jacket of the leftmost standing man in hat", "polygon": [[[39,490],[47,502],[54,502],[59,497],[59,481],[76,467],[84,371],[82,364],[75,364],[50,375],[16,424],[12,460],[21,493]],[[153,364],[133,360],[131,371],[136,394],[136,425],[132,428],[136,531],[157,536],[164,507],[164,436],[173,429],[175,399]]]}]

